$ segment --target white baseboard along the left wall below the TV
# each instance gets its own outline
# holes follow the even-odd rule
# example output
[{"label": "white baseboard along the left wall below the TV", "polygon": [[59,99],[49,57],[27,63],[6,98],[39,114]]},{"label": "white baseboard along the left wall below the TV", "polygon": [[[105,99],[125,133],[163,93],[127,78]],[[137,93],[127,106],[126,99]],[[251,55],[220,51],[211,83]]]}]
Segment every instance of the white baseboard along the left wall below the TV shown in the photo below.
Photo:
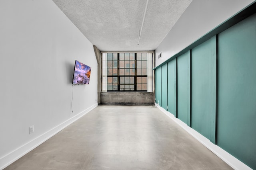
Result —
[{"label": "white baseboard along the left wall below the TV", "polygon": [[0,169],[6,168],[8,165],[10,165],[12,162],[18,160],[34,148],[38,147],[42,143],[44,143],[46,140],[50,139],[50,137],[54,136],[56,133],[60,132],[62,129],[79,119],[80,117],[84,116],[86,113],[94,109],[98,106],[97,104],[94,104],[93,106],[87,108],[86,110],[82,111],[81,113],[78,113],[77,115],[71,117],[67,121],[64,121],[60,125],[54,127],[53,129],[49,130],[48,132],[42,134],[41,136],[37,137],[36,139],[33,139],[32,141],[26,143],[25,145],[19,147],[18,149],[10,152],[6,156],[3,156],[0,158]]}]

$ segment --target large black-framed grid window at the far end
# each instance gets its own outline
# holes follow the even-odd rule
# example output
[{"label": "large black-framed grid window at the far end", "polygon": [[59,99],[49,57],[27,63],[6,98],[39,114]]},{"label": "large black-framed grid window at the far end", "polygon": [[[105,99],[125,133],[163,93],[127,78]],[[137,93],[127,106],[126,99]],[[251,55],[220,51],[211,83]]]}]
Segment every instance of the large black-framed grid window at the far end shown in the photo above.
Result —
[{"label": "large black-framed grid window at the far end", "polygon": [[103,53],[102,91],[147,92],[148,53]]}]

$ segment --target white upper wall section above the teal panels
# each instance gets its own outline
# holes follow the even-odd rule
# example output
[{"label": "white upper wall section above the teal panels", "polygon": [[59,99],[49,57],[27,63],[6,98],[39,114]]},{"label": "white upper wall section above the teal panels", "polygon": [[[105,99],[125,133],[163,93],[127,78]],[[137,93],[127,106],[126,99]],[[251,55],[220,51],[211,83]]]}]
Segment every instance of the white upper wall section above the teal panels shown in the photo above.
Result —
[{"label": "white upper wall section above the teal panels", "polygon": [[[157,47],[155,66],[191,45],[255,0],[192,0]],[[158,55],[162,57],[158,59]]]}]

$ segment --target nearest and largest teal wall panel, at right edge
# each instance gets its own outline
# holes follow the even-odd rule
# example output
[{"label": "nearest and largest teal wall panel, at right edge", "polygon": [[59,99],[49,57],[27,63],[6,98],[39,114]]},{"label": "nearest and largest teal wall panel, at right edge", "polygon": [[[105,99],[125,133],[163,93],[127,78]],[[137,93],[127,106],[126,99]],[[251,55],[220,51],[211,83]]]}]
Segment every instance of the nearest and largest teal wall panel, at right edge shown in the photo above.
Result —
[{"label": "nearest and largest teal wall panel, at right edge", "polygon": [[218,35],[217,145],[256,169],[256,14]]}]

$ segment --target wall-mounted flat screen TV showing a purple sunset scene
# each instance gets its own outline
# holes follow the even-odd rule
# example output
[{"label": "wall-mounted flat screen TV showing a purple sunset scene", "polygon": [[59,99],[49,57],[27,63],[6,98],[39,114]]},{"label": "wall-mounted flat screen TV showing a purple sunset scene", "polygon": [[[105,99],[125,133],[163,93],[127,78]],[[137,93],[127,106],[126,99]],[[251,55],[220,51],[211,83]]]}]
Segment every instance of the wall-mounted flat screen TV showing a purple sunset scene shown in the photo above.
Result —
[{"label": "wall-mounted flat screen TV showing a purple sunset scene", "polygon": [[89,84],[91,67],[76,60],[72,84]]}]

